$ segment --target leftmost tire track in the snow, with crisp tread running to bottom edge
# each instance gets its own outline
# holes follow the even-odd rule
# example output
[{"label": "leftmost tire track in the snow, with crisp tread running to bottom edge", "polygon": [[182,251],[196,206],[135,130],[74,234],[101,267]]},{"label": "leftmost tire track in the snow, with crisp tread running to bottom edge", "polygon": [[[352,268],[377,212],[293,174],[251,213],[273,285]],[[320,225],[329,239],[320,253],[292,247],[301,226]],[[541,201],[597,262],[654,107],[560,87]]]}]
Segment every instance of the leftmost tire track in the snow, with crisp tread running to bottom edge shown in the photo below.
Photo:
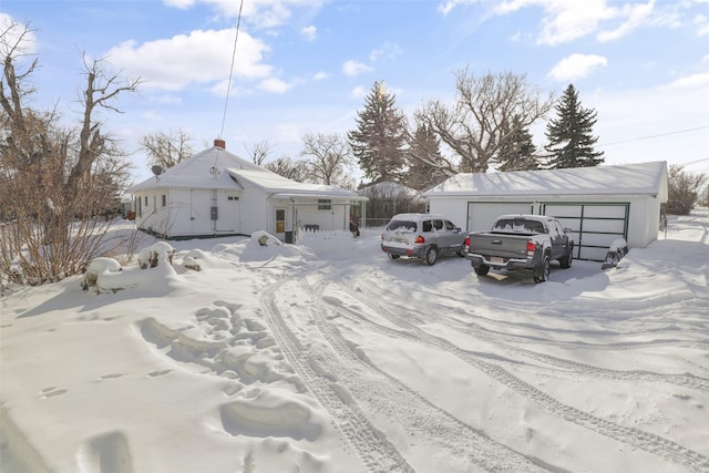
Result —
[{"label": "leftmost tire track in the snow, with crisp tread running to bottom edge", "polygon": [[285,278],[271,284],[259,296],[259,306],[288,362],[335,420],[337,428],[369,472],[413,472],[386,435],[369,422],[357,403],[348,399],[347,393],[342,392],[337,383],[321,374],[317,360],[286,325],[276,304],[277,292],[292,280]]}]

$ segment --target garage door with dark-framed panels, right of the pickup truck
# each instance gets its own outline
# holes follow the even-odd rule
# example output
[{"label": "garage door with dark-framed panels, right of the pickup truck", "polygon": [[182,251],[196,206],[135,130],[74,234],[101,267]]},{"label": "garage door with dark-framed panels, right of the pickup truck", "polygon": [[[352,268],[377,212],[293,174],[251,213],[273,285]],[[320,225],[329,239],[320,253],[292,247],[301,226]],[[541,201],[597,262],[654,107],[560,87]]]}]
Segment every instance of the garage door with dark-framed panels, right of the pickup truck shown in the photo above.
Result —
[{"label": "garage door with dark-framed panels, right of the pickup truck", "polygon": [[551,204],[542,206],[544,215],[556,217],[571,228],[577,259],[603,261],[610,244],[628,239],[630,204]]}]

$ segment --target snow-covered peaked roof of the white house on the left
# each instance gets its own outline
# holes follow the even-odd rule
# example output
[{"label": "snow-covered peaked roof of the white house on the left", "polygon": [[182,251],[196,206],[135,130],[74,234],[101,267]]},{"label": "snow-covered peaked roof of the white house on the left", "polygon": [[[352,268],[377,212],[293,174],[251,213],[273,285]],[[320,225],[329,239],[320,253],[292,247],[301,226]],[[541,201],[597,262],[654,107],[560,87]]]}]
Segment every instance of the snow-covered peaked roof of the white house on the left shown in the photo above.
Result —
[{"label": "snow-covered peaked roof of the white house on the left", "polygon": [[357,197],[336,186],[304,184],[273,173],[219,146],[213,146],[129,188],[129,193],[154,188],[242,189],[239,181],[248,181],[270,193],[311,194],[320,198]]}]

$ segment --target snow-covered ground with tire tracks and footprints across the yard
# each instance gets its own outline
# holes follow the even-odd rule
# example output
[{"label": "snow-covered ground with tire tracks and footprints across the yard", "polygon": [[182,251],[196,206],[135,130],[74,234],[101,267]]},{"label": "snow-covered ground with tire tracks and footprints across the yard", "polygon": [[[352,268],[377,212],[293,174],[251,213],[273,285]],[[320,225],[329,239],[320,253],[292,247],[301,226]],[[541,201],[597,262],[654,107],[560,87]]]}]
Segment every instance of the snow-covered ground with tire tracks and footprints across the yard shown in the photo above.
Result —
[{"label": "snow-covered ground with tire tracks and footprints across the yard", "polygon": [[6,291],[1,471],[709,471],[707,209],[542,285],[326,236]]}]

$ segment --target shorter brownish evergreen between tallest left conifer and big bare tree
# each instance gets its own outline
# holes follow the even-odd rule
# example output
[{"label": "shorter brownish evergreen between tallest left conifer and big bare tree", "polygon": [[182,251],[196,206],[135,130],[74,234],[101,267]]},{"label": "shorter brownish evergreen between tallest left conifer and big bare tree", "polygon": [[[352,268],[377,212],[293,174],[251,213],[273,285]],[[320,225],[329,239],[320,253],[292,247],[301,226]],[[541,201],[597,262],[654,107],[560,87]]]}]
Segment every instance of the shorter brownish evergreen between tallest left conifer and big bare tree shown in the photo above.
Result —
[{"label": "shorter brownish evergreen between tallest left conifer and big bare tree", "polygon": [[402,184],[417,191],[428,189],[450,177],[450,167],[441,155],[441,141],[431,126],[421,123],[409,138],[409,171]]}]

